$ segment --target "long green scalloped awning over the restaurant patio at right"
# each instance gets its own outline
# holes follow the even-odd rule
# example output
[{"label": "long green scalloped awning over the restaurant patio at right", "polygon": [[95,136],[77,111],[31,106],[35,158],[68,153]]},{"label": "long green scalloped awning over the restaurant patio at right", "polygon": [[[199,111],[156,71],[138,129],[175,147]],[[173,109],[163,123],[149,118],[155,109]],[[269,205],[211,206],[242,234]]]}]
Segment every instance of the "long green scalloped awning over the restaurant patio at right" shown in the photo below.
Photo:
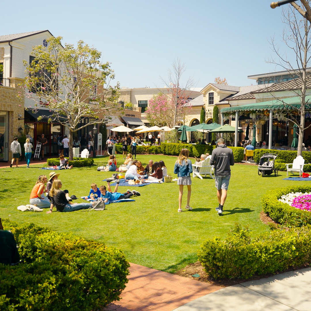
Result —
[{"label": "long green scalloped awning over the restaurant patio at right", "polygon": [[[306,109],[311,109],[311,95],[306,96]],[[282,100],[270,100],[262,103],[227,107],[220,109],[220,113],[228,113],[234,111],[253,111],[253,110],[282,110],[282,109],[299,109],[301,106],[301,97],[290,97]]]}]

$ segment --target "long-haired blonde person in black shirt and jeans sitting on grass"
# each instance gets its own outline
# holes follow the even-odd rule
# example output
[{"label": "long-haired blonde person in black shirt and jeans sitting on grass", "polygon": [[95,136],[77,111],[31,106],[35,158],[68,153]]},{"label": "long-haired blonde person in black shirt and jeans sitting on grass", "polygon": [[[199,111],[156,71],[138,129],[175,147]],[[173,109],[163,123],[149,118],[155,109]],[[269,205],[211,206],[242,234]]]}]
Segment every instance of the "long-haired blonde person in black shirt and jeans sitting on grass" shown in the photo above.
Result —
[{"label": "long-haired blonde person in black shirt and jeans sitting on grass", "polygon": [[52,213],[53,207],[56,207],[56,210],[59,212],[71,212],[71,211],[77,211],[81,209],[87,209],[90,207],[93,207],[95,202],[92,203],[77,203],[74,204],[72,202],[68,202],[66,193],[63,190],[60,190],[62,188],[62,182],[59,179],[54,179],[52,188],[50,190],[49,196],[51,198],[51,207],[47,214]]}]

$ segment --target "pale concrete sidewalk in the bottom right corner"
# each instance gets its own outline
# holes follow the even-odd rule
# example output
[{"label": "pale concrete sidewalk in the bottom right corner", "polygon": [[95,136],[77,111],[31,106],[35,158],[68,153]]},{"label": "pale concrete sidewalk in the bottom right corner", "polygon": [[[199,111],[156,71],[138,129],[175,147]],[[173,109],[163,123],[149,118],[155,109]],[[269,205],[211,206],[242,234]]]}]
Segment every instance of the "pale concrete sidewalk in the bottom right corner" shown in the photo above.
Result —
[{"label": "pale concrete sidewalk in the bottom right corner", "polygon": [[222,288],[174,311],[310,311],[311,268]]}]

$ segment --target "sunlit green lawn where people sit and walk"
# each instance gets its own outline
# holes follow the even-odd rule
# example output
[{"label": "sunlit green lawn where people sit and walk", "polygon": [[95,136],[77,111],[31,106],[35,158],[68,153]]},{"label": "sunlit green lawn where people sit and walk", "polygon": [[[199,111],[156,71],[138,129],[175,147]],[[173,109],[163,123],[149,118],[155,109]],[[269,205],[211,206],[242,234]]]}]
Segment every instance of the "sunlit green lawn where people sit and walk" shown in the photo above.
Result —
[{"label": "sunlit green lawn where people sit and walk", "polygon": [[[150,159],[164,160],[168,172],[173,176],[176,157],[161,155],[138,155],[146,166]],[[117,155],[118,165],[122,160]],[[77,197],[87,195],[91,183],[105,184],[101,180],[111,177],[111,172],[97,172],[97,166],[107,158],[97,158],[91,168],[74,168],[61,171],[59,178],[63,189]],[[192,159],[194,163],[194,160]],[[282,180],[285,172],[278,177],[257,174],[256,166],[234,165],[224,206],[224,216],[215,211],[218,206],[214,180],[203,177],[194,178],[190,206],[193,211],[178,213],[177,182],[151,184],[144,187],[129,187],[141,192],[136,202],[114,203],[107,205],[104,211],[75,211],[70,213],[46,214],[45,212],[21,212],[18,205],[29,203],[32,187],[40,174],[50,171],[30,169],[0,169],[0,217],[19,222],[34,222],[60,232],[72,232],[86,239],[94,239],[107,245],[121,248],[130,262],[153,267],[167,272],[197,261],[197,251],[206,238],[219,236],[224,238],[234,223],[250,225],[253,234],[268,230],[259,219],[261,199],[270,189],[297,185]],[[120,187],[119,192],[125,192]],[[187,191],[184,188],[183,206],[186,204]],[[78,199],[77,202],[85,202]]]}]

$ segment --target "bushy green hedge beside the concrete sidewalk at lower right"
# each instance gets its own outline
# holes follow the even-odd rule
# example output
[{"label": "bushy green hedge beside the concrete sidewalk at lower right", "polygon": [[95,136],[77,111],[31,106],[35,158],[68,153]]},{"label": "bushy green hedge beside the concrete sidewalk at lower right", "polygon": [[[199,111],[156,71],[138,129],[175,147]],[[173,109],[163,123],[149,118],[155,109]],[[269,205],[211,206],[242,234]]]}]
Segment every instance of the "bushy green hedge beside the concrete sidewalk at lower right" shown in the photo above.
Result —
[{"label": "bushy green hedge beside the concrete sidewalk at lower right", "polygon": [[273,230],[251,239],[248,228],[236,225],[225,241],[207,239],[198,258],[215,279],[247,279],[310,262],[310,247],[311,226]]}]

